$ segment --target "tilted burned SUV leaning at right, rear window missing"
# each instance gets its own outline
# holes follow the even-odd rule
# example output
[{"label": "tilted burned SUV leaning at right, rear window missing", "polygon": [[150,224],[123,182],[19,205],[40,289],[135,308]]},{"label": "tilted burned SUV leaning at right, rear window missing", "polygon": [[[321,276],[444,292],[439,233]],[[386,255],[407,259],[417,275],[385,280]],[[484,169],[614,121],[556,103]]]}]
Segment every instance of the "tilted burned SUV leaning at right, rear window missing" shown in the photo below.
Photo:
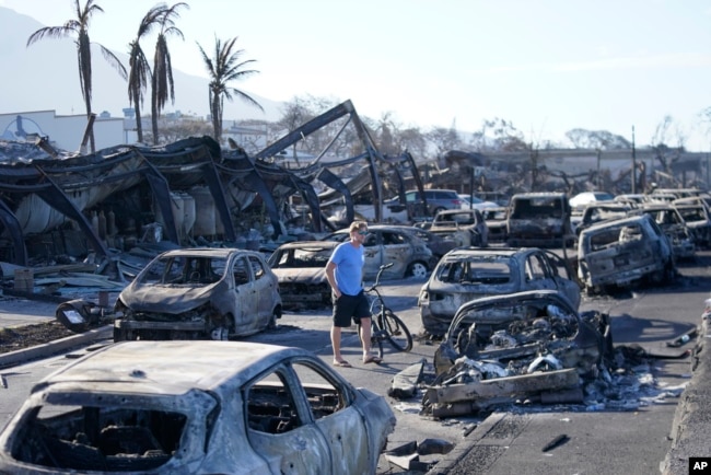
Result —
[{"label": "tilted burned SUV leaning at right, rear window missing", "polygon": [[580,234],[578,277],[588,293],[675,276],[672,244],[650,215],[603,221]]}]

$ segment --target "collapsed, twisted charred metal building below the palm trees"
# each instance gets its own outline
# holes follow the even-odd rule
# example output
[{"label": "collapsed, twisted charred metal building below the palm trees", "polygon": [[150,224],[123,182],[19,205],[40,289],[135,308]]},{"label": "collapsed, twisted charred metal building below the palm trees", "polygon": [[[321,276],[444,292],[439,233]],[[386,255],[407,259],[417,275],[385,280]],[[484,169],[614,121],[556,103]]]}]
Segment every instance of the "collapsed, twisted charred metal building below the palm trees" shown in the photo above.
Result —
[{"label": "collapsed, twisted charred metal building below the palm trees", "polygon": [[[343,123],[341,132],[354,127],[360,153],[324,163],[330,142],[298,170],[273,163],[273,157],[335,120]],[[348,184],[333,171],[358,163],[365,166]],[[383,179],[404,195],[403,174],[409,172],[422,188],[412,157],[381,154],[350,101],[253,157],[236,146],[222,150],[210,137],[164,147],[119,144],[84,155],[54,150],[46,138],[0,141],[0,262],[32,266],[89,258],[97,273],[121,280],[116,256],[138,243],[259,247],[287,240],[289,223],[305,216],[316,233],[335,230],[342,223],[324,216],[333,196],[349,222],[354,197],[371,194],[380,221]],[[319,188],[329,190],[319,195]]]}]

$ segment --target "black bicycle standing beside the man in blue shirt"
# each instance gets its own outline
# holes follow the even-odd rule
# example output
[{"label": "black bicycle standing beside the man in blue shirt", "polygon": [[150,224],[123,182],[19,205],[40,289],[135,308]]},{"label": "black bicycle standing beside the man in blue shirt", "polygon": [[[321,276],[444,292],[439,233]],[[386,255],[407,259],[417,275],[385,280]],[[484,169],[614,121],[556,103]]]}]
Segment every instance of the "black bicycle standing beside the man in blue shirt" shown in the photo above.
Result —
[{"label": "black bicycle standing beside the man in blue shirt", "polygon": [[[398,351],[407,352],[412,349],[410,331],[405,325],[405,322],[385,305],[383,296],[377,290],[383,270],[392,266],[393,263],[382,265],[377,270],[375,283],[365,289],[366,293],[374,294],[371,301],[371,345],[373,348],[377,348],[377,357],[381,359],[383,358],[383,340],[387,340]],[[360,335],[360,325],[358,326],[358,334]]]}]

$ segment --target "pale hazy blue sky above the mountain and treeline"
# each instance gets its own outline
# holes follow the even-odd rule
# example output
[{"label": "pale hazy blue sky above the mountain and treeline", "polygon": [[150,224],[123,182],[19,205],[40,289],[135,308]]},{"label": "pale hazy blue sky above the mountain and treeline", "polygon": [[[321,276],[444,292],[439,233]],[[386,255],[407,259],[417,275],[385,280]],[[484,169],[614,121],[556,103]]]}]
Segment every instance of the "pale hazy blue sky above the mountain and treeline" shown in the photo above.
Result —
[{"label": "pale hazy blue sky above the mountain and treeline", "polygon": [[[85,0],[81,0],[82,4]],[[126,51],[149,0],[96,0],[91,38]],[[173,4],[174,2],[168,2]],[[401,126],[475,131],[506,119],[527,141],[609,130],[711,149],[711,2],[704,0],[187,0],[174,68],[205,76],[196,42],[238,36],[259,74],[235,84],[275,101],[350,99]],[[0,0],[49,26],[72,0]],[[151,45],[152,43],[148,43]],[[678,131],[677,131],[678,130]]]}]

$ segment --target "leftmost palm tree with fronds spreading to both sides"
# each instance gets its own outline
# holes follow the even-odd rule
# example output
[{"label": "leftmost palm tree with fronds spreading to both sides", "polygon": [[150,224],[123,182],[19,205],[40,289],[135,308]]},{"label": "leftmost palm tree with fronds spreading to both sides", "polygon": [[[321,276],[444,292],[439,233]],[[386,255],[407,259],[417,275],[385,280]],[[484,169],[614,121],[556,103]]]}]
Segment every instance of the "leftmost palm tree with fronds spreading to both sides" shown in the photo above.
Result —
[{"label": "leftmost palm tree with fronds spreading to both sides", "polygon": [[[45,26],[44,28],[37,30],[35,33],[30,35],[30,38],[27,38],[27,46],[44,39],[45,37],[66,38],[75,36],[74,43],[77,45],[77,61],[79,63],[79,81],[82,96],[84,97],[84,104],[86,106],[86,119],[89,120],[92,116],[92,43],[89,39],[89,22],[94,13],[103,13],[104,10],[97,4],[94,4],[94,0],[86,0],[86,4],[84,4],[83,9],[79,4],[79,0],[74,0],[74,9],[77,13],[75,19],[67,20],[62,26]],[[121,65],[121,61],[116,57],[116,55],[104,46],[98,44],[96,45],[101,48],[104,58],[109,62],[109,65],[116,68],[121,78],[126,79],[126,68]],[[90,129],[89,138],[91,140],[91,151],[93,153],[96,151],[93,129]]]}]

